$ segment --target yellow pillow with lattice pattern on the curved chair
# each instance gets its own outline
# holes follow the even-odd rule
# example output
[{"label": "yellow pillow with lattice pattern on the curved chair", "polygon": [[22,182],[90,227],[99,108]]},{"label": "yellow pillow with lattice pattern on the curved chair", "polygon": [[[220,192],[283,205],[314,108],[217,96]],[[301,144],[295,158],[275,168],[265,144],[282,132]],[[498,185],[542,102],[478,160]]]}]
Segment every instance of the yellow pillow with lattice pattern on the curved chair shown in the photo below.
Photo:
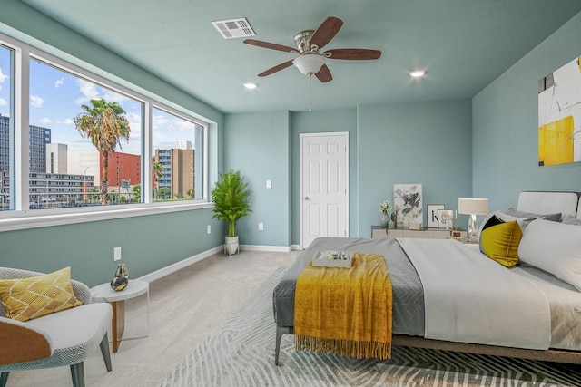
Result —
[{"label": "yellow pillow with lattice pattern on the curved chair", "polygon": [[0,280],[0,299],[6,317],[18,321],[83,305],[74,296],[70,266],[43,276]]}]

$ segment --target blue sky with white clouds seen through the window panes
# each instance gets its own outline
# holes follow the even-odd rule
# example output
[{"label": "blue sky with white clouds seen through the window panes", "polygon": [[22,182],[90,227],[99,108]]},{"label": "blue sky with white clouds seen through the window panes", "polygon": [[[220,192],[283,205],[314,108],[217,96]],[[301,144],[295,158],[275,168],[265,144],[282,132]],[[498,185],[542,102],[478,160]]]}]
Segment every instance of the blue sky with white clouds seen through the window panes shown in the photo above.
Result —
[{"label": "blue sky with white clouds seen through the window panes", "polygon": [[[10,55],[0,46],[0,114],[10,116]],[[128,143],[122,142],[126,153],[140,154],[142,105],[123,94],[113,92],[92,82],[45,63],[31,61],[30,65],[30,124],[52,131],[52,142],[63,143],[69,150],[94,150],[90,140],[83,139],[74,126],[73,118],[83,112],[82,104],[93,98],[118,102],[126,111],[132,128]],[[153,111],[153,149],[175,148],[177,140],[191,140],[194,125],[165,111]]]}]

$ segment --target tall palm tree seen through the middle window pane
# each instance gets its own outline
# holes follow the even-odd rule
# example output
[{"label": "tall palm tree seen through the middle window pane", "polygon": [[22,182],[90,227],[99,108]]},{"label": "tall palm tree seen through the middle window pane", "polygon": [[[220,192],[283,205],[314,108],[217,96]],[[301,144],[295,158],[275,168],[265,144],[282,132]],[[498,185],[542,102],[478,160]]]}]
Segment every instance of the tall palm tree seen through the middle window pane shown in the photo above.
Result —
[{"label": "tall palm tree seen through the middle window pane", "polygon": [[81,105],[84,112],[74,117],[74,126],[85,139],[91,139],[94,147],[101,153],[101,204],[107,204],[107,168],[109,155],[115,153],[121,140],[129,142],[131,128],[124,116],[125,111],[117,102],[106,102],[103,99],[91,100],[91,106]]}]

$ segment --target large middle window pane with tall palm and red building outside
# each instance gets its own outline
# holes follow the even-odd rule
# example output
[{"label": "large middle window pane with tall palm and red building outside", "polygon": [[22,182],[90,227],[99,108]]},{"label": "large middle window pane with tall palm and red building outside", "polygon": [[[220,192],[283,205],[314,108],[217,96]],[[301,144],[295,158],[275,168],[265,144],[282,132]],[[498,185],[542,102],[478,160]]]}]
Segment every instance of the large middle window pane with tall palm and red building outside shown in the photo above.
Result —
[{"label": "large middle window pane with tall palm and red building outside", "polygon": [[[101,102],[117,103],[131,130],[107,160],[74,122]],[[29,109],[30,172],[38,172],[29,181],[31,208],[141,202],[134,188],[141,185],[143,102],[32,59]]]}]

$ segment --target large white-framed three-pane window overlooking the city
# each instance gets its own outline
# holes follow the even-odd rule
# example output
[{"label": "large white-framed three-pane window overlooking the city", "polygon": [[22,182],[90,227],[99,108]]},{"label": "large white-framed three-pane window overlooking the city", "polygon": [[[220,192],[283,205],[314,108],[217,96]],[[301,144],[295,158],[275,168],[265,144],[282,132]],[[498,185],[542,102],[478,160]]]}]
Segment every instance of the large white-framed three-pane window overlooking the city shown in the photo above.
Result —
[{"label": "large white-framed three-pane window overlooking the city", "polygon": [[[37,227],[31,213],[65,224],[209,205],[208,125],[153,97],[0,34],[0,218],[22,220],[3,227]],[[108,158],[79,121],[99,103],[130,129]]]}]

